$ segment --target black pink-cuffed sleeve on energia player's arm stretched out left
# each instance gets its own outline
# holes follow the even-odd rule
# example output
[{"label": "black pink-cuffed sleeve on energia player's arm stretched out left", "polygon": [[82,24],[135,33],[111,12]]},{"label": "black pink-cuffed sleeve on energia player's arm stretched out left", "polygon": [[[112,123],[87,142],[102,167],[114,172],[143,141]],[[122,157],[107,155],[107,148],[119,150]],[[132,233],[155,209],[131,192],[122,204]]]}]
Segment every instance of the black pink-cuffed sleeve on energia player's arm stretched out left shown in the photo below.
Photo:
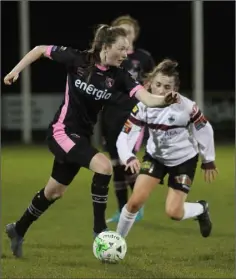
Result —
[{"label": "black pink-cuffed sleeve on energia player's arm stretched out left", "polygon": [[78,50],[64,46],[48,46],[45,56],[66,66],[71,66],[78,57]]}]

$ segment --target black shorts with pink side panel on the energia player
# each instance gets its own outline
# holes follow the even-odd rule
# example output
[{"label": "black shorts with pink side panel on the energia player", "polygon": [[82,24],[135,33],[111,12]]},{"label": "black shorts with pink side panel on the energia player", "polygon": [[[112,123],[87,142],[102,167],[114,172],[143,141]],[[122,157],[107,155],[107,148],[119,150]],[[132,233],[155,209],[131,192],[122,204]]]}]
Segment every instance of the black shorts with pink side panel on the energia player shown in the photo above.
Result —
[{"label": "black shorts with pink side panel on the energia player", "polygon": [[55,156],[51,176],[63,185],[69,185],[81,167],[89,168],[92,158],[98,153],[89,138],[73,133],[49,136],[47,142]]}]

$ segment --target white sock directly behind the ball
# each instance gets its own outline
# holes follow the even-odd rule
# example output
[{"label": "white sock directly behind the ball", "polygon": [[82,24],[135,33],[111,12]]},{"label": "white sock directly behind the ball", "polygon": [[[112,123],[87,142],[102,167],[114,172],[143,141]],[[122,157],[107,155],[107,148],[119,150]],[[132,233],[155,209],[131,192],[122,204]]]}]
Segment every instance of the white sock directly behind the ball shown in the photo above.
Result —
[{"label": "white sock directly behind the ball", "polygon": [[137,214],[138,212],[130,213],[129,211],[127,211],[125,205],[122,208],[116,232],[119,233],[121,236],[126,237],[134,224]]}]

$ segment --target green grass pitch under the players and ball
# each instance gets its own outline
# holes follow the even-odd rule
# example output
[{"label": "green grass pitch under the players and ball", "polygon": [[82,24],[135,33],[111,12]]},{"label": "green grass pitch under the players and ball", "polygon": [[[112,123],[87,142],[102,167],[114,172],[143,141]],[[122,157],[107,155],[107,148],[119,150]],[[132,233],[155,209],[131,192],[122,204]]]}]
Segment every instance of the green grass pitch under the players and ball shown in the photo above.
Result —
[{"label": "green grass pitch under the players and ball", "polygon": [[[234,147],[217,146],[219,176],[204,183],[200,169],[189,200],[207,199],[213,234],[204,239],[193,220],[175,222],[164,213],[166,186],[159,186],[145,206],[145,218],[127,238],[128,252],[118,265],[105,265],[92,253],[92,173],[81,170],[62,200],[33,224],[24,258],[14,259],[5,225],[20,217],[50,176],[52,156],[46,147],[2,150],[3,278],[234,278]],[[116,210],[113,187],[107,217]],[[110,229],[115,230],[115,225]]]}]

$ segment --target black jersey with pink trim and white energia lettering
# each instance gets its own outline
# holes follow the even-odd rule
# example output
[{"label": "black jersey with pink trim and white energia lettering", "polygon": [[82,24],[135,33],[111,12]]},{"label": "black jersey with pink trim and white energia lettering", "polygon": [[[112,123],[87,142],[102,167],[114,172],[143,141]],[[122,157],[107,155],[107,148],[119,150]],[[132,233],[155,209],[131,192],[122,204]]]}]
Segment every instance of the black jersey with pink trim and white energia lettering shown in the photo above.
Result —
[{"label": "black jersey with pink trim and white energia lettering", "polygon": [[67,69],[66,92],[50,131],[90,136],[97,114],[116,94],[134,96],[141,87],[128,71],[121,67],[96,65],[88,70],[87,52],[62,46],[49,46],[46,55],[65,64]]}]

